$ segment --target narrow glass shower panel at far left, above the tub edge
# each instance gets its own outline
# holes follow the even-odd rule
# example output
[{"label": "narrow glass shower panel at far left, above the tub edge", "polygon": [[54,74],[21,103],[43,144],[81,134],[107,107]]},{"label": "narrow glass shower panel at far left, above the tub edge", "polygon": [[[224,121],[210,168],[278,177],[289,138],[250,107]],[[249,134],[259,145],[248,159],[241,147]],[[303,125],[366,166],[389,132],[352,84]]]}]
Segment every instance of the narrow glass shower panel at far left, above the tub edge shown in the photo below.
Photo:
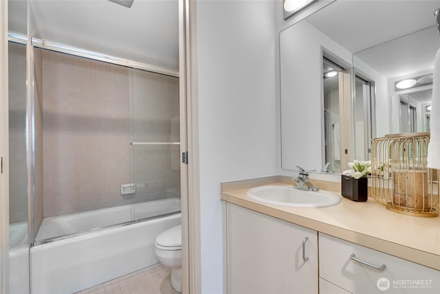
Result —
[{"label": "narrow glass shower panel at far left, above the tub edge", "polygon": [[26,167],[27,5],[8,7],[10,246],[28,244],[28,169]]}]

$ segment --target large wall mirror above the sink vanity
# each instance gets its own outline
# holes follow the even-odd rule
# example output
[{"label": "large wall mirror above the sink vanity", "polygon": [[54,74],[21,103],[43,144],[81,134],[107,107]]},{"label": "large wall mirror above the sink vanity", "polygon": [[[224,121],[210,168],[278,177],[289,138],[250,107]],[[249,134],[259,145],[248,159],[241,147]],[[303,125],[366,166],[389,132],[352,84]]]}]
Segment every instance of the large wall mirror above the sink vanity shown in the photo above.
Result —
[{"label": "large wall mirror above the sink vanity", "polygon": [[282,169],[339,173],[372,138],[429,131],[437,8],[338,0],[280,33]]}]

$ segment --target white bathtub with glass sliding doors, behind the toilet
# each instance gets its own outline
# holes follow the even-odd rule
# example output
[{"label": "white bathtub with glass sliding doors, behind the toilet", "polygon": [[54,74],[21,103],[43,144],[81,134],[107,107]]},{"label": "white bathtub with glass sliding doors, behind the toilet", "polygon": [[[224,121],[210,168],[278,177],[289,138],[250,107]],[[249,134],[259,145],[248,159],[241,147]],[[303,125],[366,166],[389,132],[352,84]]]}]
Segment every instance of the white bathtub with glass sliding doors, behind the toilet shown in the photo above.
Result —
[{"label": "white bathtub with glass sliding doors, behind the toilet", "polygon": [[[177,211],[179,198],[168,198],[43,220],[37,240],[85,231],[91,226],[107,227],[129,221],[133,216],[151,218],[32,247],[32,293],[74,293],[156,264],[155,238],[181,223]],[[166,213],[172,214],[155,218]]]}]

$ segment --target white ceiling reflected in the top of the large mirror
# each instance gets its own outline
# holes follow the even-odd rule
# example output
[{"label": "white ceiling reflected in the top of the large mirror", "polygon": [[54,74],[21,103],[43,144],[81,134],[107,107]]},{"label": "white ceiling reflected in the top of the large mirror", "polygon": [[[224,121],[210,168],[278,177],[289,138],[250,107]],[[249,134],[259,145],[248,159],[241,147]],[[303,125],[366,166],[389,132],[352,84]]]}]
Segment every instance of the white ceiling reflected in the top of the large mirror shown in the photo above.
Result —
[{"label": "white ceiling reflected in the top of the large mirror", "polygon": [[393,78],[432,70],[440,48],[434,20],[437,8],[440,1],[338,0],[307,21]]}]

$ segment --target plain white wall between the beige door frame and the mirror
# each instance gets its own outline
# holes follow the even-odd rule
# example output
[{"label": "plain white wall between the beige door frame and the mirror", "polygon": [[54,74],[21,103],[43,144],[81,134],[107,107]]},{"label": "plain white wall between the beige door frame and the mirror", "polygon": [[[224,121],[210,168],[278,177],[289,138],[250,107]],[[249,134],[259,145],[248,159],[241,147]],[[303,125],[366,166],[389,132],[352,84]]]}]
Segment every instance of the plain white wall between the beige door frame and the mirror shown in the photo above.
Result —
[{"label": "plain white wall between the beige door frame and the mirror", "polygon": [[198,1],[201,293],[223,293],[220,182],[276,174],[274,1]]}]

